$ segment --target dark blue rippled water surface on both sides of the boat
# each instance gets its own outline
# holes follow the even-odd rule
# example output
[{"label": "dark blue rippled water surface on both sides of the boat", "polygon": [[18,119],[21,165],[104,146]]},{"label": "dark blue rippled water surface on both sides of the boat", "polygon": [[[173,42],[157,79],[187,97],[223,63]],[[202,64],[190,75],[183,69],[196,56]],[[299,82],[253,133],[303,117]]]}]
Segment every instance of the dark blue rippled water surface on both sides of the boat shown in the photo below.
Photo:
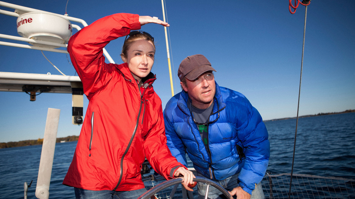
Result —
[{"label": "dark blue rippled water surface on both sides of the boat", "polygon": [[[296,119],[267,121],[271,157],[268,171],[290,173]],[[50,196],[75,198],[62,185],[77,142],[56,143]],[[42,145],[0,149],[0,198],[23,198],[23,183],[33,180],[28,199],[35,199]],[[192,166],[191,162],[189,163]],[[300,118],[294,173],[355,179],[355,113]]]}]

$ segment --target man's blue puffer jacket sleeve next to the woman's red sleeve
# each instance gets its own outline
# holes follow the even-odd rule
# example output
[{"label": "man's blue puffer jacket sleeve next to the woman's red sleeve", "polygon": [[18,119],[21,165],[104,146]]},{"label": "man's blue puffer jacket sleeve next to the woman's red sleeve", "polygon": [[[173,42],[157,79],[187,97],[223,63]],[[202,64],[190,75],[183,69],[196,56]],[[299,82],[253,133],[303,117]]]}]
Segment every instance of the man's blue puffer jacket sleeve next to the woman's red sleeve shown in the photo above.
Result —
[{"label": "man's blue puffer jacket sleeve next to the woman's red sleeve", "polygon": [[174,114],[174,106],[169,106],[169,104],[170,101],[168,102],[168,104],[166,104],[166,108],[164,110],[164,124],[167,145],[170,149],[171,155],[173,155],[179,163],[187,167],[184,143],[182,142],[181,138],[176,134],[174,126],[171,123],[171,121],[173,121],[172,117]]}]

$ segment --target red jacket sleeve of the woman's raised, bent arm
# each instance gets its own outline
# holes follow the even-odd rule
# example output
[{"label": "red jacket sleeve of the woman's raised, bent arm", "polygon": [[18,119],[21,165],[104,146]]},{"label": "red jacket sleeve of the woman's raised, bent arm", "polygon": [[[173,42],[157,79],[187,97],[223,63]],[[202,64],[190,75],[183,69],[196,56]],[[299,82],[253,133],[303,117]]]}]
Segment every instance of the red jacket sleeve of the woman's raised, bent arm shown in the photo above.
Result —
[{"label": "red jacket sleeve of the woman's raised, bent arm", "polygon": [[102,49],[111,40],[140,28],[138,15],[118,13],[98,19],[70,38],[68,52],[89,99],[111,79],[113,66],[105,63]]}]

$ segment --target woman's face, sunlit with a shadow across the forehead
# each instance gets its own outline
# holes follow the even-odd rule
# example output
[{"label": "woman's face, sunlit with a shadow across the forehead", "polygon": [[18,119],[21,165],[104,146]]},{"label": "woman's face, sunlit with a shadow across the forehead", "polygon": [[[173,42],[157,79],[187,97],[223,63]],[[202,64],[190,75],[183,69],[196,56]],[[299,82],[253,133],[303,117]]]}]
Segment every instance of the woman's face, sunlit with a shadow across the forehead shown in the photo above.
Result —
[{"label": "woman's face, sunlit with a shadow across the forehead", "polygon": [[155,49],[151,41],[140,39],[133,42],[127,51],[127,59],[122,60],[128,64],[133,77],[139,82],[152,70]]}]

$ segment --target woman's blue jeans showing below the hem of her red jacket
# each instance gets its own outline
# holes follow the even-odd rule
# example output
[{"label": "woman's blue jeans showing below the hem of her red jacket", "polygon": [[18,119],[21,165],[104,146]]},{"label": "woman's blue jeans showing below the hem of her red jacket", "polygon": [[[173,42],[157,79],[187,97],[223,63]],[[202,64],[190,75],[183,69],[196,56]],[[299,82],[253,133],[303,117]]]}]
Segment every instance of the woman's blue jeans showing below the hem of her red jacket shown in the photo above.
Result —
[{"label": "woman's blue jeans showing below the hem of her red jacket", "polygon": [[133,191],[92,191],[74,187],[76,199],[137,199],[146,191],[146,188]]}]

